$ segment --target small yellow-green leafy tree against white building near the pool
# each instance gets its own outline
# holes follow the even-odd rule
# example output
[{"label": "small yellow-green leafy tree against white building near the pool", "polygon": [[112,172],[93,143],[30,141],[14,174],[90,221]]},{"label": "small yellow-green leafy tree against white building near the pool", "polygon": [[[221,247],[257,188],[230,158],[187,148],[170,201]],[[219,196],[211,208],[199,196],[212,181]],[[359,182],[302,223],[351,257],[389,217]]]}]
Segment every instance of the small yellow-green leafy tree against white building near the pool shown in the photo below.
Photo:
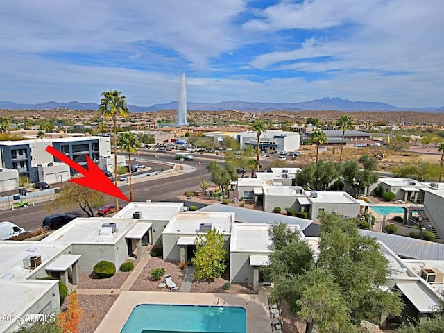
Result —
[{"label": "small yellow-green leafy tree against white building near the pool", "polygon": [[198,234],[196,240],[196,250],[194,251],[193,266],[196,268],[195,276],[198,279],[219,278],[225,271],[225,241],[223,233],[219,233],[216,228]]}]

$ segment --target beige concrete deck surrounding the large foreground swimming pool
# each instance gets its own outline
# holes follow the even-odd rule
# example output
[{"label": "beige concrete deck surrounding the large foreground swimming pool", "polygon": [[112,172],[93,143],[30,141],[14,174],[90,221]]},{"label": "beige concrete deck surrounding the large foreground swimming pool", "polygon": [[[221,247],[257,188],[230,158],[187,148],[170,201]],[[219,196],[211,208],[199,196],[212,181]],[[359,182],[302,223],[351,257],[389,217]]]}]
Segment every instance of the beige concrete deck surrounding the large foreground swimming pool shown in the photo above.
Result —
[{"label": "beige concrete deck surrounding the large foreground swimming pool", "polygon": [[[160,293],[153,291],[122,291],[96,333],[120,332],[131,311],[139,304],[225,305],[244,307],[248,333],[271,333],[268,290],[259,295],[225,293]],[[180,327],[178,327],[180,328]]]}]

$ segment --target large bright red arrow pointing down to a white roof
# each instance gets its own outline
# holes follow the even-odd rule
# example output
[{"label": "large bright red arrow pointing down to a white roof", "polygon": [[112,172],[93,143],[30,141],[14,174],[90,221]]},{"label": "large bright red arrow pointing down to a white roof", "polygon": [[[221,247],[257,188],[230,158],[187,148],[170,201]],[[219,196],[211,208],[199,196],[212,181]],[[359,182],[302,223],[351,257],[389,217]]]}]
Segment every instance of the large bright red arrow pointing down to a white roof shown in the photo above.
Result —
[{"label": "large bright red arrow pointing down to a white roof", "polygon": [[75,182],[76,184],[88,187],[89,189],[95,189],[96,191],[102,192],[104,194],[117,196],[117,198],[129,201],[125,194],[123,194],[122,191],[112,183],[110,178],[105,176],[105,173],[103,173],[103,171],[101,171],[101,169],[96,166],[96,164],[89,158],[88,155],[85,155],[88,165],[88,169],[85,169],[73,160],[70,160],[68,157],[60,153],[60,151],[58,151],[56,148],[53,148],[52,146],[47,146],[46,151],[83,175],[83,177],[80,178],[70,179],[70,182]]}]

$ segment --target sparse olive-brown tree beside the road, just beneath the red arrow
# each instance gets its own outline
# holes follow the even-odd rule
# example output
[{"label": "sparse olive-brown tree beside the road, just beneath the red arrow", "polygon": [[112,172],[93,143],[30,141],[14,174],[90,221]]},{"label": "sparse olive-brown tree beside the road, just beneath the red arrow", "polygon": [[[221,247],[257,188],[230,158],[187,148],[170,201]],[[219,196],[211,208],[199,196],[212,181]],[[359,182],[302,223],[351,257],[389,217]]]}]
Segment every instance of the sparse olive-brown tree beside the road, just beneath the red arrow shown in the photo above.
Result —
[{"label": "sparse olive-brown tree beside the road, just beneath the red arrow", "polygon": [[88,217],[92,217],[94,216],[93,208],[100,207],[104,203],[105,196],[101,192],[69,182],[60,190],[60,194],[47,206],[47,209],[71,211],[78,205]]}]

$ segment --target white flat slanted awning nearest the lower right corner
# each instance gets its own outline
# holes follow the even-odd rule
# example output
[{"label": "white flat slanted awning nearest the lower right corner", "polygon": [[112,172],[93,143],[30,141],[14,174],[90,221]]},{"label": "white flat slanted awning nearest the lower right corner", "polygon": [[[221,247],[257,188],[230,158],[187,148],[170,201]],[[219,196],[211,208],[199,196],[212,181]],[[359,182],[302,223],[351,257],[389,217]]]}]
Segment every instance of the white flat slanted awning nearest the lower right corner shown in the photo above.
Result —
[{"label": "white flat slanted awning nearest the lower right corner", "polygon": [[404,293],[418,311],[421,313],[431,313],[439,307],[437,297],[434,298],[420,282],[398,282],[396,286]]}]

